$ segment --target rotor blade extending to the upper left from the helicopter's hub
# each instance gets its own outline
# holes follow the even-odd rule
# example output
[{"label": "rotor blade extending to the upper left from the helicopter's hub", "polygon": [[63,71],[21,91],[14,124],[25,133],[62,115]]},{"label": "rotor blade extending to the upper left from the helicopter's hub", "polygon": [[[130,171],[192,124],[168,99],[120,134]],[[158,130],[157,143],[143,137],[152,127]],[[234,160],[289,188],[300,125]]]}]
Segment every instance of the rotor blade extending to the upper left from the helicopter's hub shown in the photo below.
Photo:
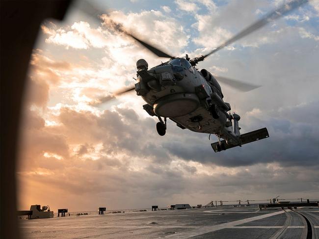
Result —
[{"label": "rotor blade extending to the upper left from the helicopter's hub", "polygon": [[[86,13],[89,16],[92,16],[92,17],[96,18],[99,21],[101,21],[101,16],[103,14],[106,14],[106,13],[103,13],[101,10],[99,10],[97,7],[95,7],[92,3],[88,2],[88,1],[80,1],[77,4],[77,7],[82,12]],[[110,27],[110,28],[112,28],[115,31],[118,31],[120,33],[124,33],[124,34],[132,37],[134,40],[139,42],[142,46],[144,46],[149,51],[151,51],[152,53],[156,54],[159,57],[174,58],[174,56],[171,56],[170,54],[164,53],[163,51],[161,51],[160,49],[152,46],[151,44],[149,44],[149,43],[147,43],[145,41],[142,41],[141,39],[138,39],[132,33],[128,32],[126,29],[124,29],[122,24],[116,23],[110,18],[107,18],[107,19],[104,18],[104,24],[107,27]]]}]

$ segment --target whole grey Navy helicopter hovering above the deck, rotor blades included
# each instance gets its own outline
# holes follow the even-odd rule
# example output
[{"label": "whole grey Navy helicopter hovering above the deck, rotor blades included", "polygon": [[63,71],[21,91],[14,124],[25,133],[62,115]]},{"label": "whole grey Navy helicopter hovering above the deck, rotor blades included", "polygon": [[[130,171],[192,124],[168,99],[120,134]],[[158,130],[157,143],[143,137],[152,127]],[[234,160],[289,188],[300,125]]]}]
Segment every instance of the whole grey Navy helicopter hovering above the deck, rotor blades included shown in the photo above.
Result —
[{"label": "whole grey Navy helicopter hovering above the deck, rotor blades included", "polygon": [[[151,69],[144,59],[136,62],[137,79],[134,87],[122,90],[114,95],[120,95],[132,90],[136,91],[147,103],[143,108],[150,116],[159,119],[157,132],[163,136],[166,133],[167,118],[181,129],[198,133],[215,134],[218,141],[212,143],[214,152],[220,152],[246,143],[269,137],[266,128],[240,134],[240,116],[231,113],[229,103],[223,101],[223,93],[219,82],[229,84],[237,89],[248,91],[259,86],[218,77],[218,80],[206,69],[198,70],[196,65],[206,57],[234,43],[240,38],[264,27],[293,9],[306,3],[307,0],[294,0],[268,13],[264,18],[240,31],[237,35],[213,49],[210,53],[190,59],[174,57],[158,48],[135,37],[123,29],[120,24],[109,20],[108,26],[133,37],[159,57],[167,57],[163,62]],[[223,140],[221,140],[223,139]]]}]

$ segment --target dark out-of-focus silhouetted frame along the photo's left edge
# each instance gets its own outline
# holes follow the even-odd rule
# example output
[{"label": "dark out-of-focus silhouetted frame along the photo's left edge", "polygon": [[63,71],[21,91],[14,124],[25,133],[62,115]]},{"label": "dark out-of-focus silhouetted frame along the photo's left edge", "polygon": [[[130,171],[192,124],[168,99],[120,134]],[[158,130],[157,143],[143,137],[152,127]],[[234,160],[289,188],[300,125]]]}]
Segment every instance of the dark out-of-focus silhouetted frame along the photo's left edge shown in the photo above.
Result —
[{"label": "dark out-of-focus silhouetted frame along the photo's left edge", "polygon": [[[19,239],[16,207],[16,158],[27,68],[40,24],[62,20],[70,0],[0,1],[1,58],[1,235]],[[8,182],[10,182],[8,184]],[[5,219],[4,219],[5,218]]]}]

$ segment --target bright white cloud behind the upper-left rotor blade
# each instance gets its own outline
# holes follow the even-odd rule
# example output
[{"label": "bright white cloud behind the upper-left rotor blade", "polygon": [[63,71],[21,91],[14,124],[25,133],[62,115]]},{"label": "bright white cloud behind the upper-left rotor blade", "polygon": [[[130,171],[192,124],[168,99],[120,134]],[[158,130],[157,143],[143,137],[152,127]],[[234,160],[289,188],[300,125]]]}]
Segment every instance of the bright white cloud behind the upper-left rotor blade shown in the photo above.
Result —
[{"label": "bright white cloud behind the upper-left rotor blade", "polygon": [[[168,10],[168,8],[165,8]],[[104,24],[92,28],[87,22],[76,22],[71,27],[56,27],[51,23],[42,25],[42,31],[48,35],[46,43],[65,46],[66,49],[114,48],[116,45],[132,46],[136,43],[133,39],[121,34],[123,30],[132,32],[141,38],[147,37],[147,41],[157,45],[161,42],[161,48],[171,50],[173,53],[185,47],[188,36],[178,21],[172,17],[163,15],[160,11],[142,11],[139,14],[129,13],[125,15],[121,11],[113,11],[108,15],[102,15]],[[110,24],[112,23],[112,24]],[[48,27],[48,26],[51,27]],[[115,31],[116,27],[123,27]],[[169,27],[167,27],[169,26]],[[115,27],[115,28],[114,28]],[[144,34],[148,32],[147,36]],[[117,33],[114,35],[114,33]],[[118,37],[120,35],[121,37]],[[179,38],[176,38],[176,35]],[[172,44],[174,42],[174,44]]]}]

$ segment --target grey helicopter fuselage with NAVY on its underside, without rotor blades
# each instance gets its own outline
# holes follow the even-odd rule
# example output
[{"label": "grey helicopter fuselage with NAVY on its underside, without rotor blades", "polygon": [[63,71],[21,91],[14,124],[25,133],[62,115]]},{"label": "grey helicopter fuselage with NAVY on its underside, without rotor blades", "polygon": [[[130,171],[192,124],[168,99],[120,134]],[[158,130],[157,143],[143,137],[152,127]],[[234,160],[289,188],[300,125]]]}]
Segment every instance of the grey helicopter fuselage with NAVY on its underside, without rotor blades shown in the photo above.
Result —
[{"label": "grey helicopter fuselage with NAVY on its underside, without rotor blades", "polygon": [[200,72],[186,59],[175,58],[150,70],[139,70],[137,75],[135,90],[147,103],[143,107],[150,115],[169,118],[182,129],[240,143],[227,113],[230,105],[222,100],[220,85],[207,70]]}]

